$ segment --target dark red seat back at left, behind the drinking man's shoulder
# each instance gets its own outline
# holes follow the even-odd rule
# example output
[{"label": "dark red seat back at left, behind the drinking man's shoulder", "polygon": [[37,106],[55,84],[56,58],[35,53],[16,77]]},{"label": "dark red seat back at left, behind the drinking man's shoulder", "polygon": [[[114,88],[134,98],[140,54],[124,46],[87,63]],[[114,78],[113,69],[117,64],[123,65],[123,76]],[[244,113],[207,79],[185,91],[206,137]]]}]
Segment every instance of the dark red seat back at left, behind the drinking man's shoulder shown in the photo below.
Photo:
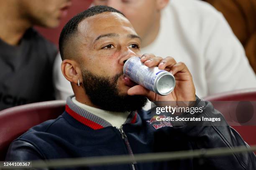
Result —
[{"label": "dark red seat back at left, behind the drinking man's shoulder", "polygon": [[65,109],[65,100],[37,102],[0,111],[0,161],[5,159],[10,143],[29,128],[55,119]]}]

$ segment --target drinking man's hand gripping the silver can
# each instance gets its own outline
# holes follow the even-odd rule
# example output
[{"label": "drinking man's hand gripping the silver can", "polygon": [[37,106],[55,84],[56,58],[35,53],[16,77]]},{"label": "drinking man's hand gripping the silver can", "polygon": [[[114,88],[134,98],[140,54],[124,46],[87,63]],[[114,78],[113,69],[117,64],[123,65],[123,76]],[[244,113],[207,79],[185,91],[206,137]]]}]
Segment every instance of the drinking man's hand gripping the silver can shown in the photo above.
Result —
[{"label": "drinking man's hand gripping the silver can", "polygon": [[176,62],[173,57],[156,57],[153,54],[144,54],[141,56],[141,62],[148,67],[158,66],[171,72],[176,80],[174,90],[165,96],[156,94],[141,85],[136,85],[128,90],[128,95],[143,95],[151,101],[195,101],[195,86],[192,75],[183,62]]}]

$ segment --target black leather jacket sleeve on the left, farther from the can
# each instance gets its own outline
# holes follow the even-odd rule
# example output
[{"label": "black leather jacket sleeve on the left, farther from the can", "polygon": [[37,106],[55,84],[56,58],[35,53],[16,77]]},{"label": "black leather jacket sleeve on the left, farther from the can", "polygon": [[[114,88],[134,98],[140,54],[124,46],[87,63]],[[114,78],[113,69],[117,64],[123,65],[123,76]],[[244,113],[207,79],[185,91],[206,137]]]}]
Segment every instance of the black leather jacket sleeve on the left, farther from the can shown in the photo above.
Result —
[{"label": "black leather jacket sleeve on the left, farther from the can", "polygon": [[[31,143],[28,143],[23,140],[13,141],[13,143],[11,143],[8,149],[7,155],[5,157],[5,161],[26,161],[26,160],[44,160],[44,157],[43,155],[41,155],[39,150],[35,146],[33,146]],[[49,169],[32,168],[32,170],[49,170]]]}]

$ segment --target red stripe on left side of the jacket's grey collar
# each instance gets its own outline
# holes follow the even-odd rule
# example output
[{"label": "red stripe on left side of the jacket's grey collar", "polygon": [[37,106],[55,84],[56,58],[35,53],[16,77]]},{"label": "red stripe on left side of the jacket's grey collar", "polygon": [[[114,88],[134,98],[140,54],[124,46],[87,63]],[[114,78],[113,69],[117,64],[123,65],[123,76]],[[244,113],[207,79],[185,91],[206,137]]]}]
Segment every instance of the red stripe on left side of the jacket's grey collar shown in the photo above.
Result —
[{"label": "red stripe on left side of the jacket's grey collar", "polygon": [[68,105],[66,105],[66,112],[69,115],[71,115],[74,119],[76,119],[77,121],[81,122],[84,125],[89,126],[90,128],[92,128],[94,130],[104,128],[102,125],[99,125],[99,124],[93,122],[92,120],[89,120],[89,119],[87,119],[85,117],[82,117],[81,115],[77,114],[76,112],[71,110]]}]

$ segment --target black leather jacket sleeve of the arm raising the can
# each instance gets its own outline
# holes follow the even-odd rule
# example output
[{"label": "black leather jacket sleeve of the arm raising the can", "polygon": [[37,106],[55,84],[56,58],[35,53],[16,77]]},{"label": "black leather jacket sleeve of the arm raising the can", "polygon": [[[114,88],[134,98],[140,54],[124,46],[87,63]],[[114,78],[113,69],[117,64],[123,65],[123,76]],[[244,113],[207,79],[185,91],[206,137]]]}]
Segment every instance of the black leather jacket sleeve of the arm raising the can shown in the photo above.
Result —
[{"label": "black leather jacket sleeve of the arm raising the can", "polygon": [[[203,107],[203,111],[197,115],[186,114],[184,117],[216,117],[220,118],[220,122],[173,121],[174,128],[187,137],[193,149],[249,147],[236,130],[228,125],[223,115],[214,109],[211,102],[200,100],[197,97],[194,107]],[[208,170],[256,170],[256,156],[253,152],[209,157],[204,158],[202,162]],[[199,163],[195,163],[195,166],[199,166]]]}]

